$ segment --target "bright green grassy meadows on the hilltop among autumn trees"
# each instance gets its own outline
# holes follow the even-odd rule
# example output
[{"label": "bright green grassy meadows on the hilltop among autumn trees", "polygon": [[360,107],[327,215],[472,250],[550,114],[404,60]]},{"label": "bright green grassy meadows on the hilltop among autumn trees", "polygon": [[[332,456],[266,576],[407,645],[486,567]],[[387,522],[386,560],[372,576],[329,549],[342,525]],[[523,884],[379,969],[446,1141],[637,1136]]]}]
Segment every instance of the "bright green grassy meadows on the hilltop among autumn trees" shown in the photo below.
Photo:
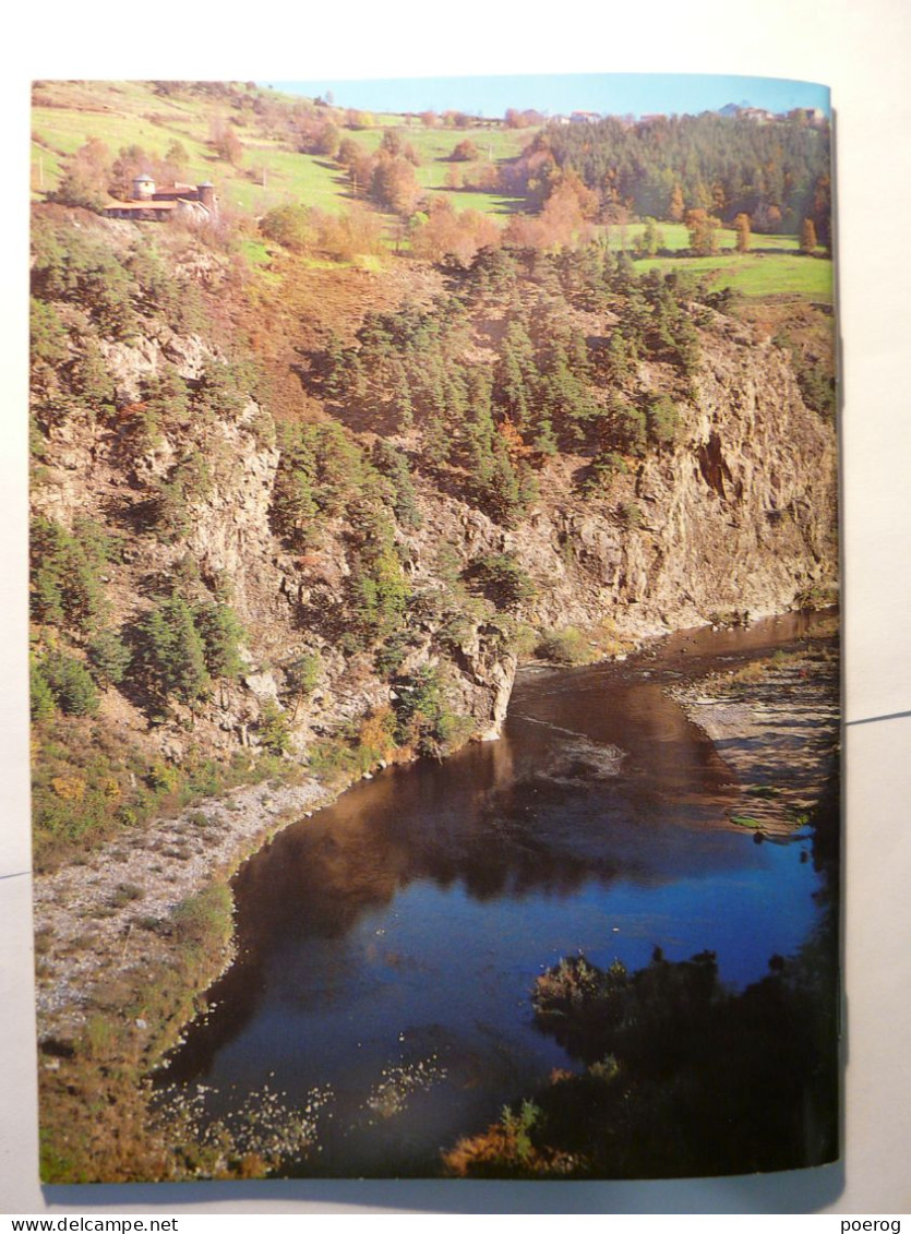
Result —
[{"label": "bright green grassy meadows on the hilltop among autumn trees", "polygon": [[[277,91],[249,86],[249,107],[232,107],[225,99],[210,96],[175,97],[156,93],[149,83],[138,81],[42,81],[36,84],[32,110],[32,196],[42,200],[59,183],[65,159],[89,138],[102,141],[112,154],[128,146],[141,146],[151,155],[164,158],[173,141],[186,151],[185,179],[200,183],[210,179],[222,201],[235,211],[259,216],[274,206],[302,202],[327,213],[339,213],[352,201],[344,172],[323,155],[302,154],[288,148],[286,135],[270,136],[268,122],[252,107],[273,99],[301,104]],[[214,126],[230,122],[239,138],[242,153],[236,165],[220,158],[210,146]],[[521,210],[522,200],[501,193],[481,193],[452,188],[453,172],[476,178],[486,164],[515,158],[533,137],[533,128],[511,130],[476,125],[449,128],[428,127],[416,116],[365,115],[363,127],[343,130],[368,152],[375,151],[386,128],[395,128],[418,155],[415,174],[420,185],[446,196],[456,210],[478,210],[505,226],[511,213]],[[460,143],[472,142],[478,159],[452,162]],[[394,218],[388,217],[390,246],[395,236]],[[718,232],[720,252],[712,257],[685,257],[689,233],[684,223],[657,225],[663,255],[637,260],[641,271],[683,269],[711,278],[715,288],[731,288],[749,297],[792,295],[811,300],[832,300],[832,264],[821,257],[799,254],[796,236],[752,236],[751,252],[739,254],[736,233]],[[634,251],[644,222],[612,225],[602,237],[614,252]],[[244,257],[252,267],[264,269],[269,254],[264,246],[249,241]],[[680,257],[668,255],[680,253]]]}]

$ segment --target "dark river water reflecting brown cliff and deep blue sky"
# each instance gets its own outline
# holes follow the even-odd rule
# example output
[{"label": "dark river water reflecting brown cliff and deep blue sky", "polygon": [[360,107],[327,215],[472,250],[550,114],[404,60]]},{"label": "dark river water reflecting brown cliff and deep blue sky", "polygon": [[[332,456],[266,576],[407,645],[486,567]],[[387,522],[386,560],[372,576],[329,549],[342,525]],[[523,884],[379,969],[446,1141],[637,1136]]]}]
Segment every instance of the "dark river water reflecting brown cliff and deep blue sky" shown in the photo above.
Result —
[{"label": "dark river water reflecting brown cliff and deep blue sky", "polygon": [[223,1116],[264,1086],[331,1086],[320,1150],[290,1172],[435,1174],[553,1067],[536,975],[705,948],[733,987],[807,937],[809,835],[722,829],[734,777],[663,691],[804,633],[796,617],[674,636],[622,665],[528,670],[504,735],[389,768],[283,832],[235,880],[239,959],[169,1082]]}]

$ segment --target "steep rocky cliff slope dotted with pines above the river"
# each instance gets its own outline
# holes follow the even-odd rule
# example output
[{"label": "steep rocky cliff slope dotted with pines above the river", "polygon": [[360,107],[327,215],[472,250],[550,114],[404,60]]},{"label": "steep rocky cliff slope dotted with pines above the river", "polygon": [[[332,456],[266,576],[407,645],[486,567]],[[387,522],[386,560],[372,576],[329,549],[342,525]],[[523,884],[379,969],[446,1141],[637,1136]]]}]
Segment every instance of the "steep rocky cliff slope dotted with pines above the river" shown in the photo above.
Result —
[{"label": "steep rocky cliff slope dotted with pines above the river", "polygon": [[[105,682],[100,722],[126,734],[149,763],[180,764],[190,750],[226,758],[263,748],[267,719],[273,753],[293,756],[332,734],[357,742],[358,726],[370,717],[383,729],[376,756],[391,756],[394,747],[405,755],[444,750],[467,735],[499,733],[516,664],[535,654],[543,633],[572,632],[576,656],[616,654],[669,629],[783,611],[834,581],[832,426],[805,405],[785,349],[704,301],[686,302],[670,284],[641,281],[653,304],[643,310],[642,292],[637,306],[628,281],[604,290],[609,260],[607,283],[594,292],[548,292],[551,316],[527,327],[538,331],[538,342],[528,336],[526,346],[539,354],[522,362],[526,380],[543,390],[559,375],[548,331],[567,338],[575,331],[589,418],[573,421],[575,412],[558,399],[548,412],[558,448],[541,450],[520,421],[510,422],[509,400],[496,391],[509,359],[507,322],[533,322],[544,302],[521,264],[514,265],[518,290],[507,305],[491,291],[478,301],[470,284],[465,290],[467,276],[449,286],[416,263],[349,280],[347,307],[336,306],[349,347],[365,338],[358,305],[368,290],[372,302],[393,311],[374,315],[391,331],[384,337],[405,332],[400,344],[380,344],[379,369],[401,364],[400,346],[412,357],[416,389],[422,357],[410,339],[423,331],[428,370],[436,365],[444,378],[439,362],[448,355],[451,368],[460,365],[463,386],[484,371],[475,384],[483,392],[488,383],[488,404],[493,380],[500,402],[488,413],[484,458],[506,468],[512,482],[531,476],[536,492],[504,515],[478,496],[465,463],[458,421],[469,412],[449,412],[442,427],[462,445],[449,462],[430,462],[430,404],[416,420],[409,412],[395,422],[381,381],[360,404],[328,391],[318,374],[332,348],[321,353],[314,342],[326,339],[318,305],[307,300],[294,320],[270,308],[275,333],[259,331],[268,363],[259,360],[272,365],[273,378],[280,370],[285,392],[289,381],[296,390],[273,404],[237,364],[238,355],[257,362],[256,349],[239,347],[235,320],[249,321],[252,301],[249,289],[232,281],[223,254],[177,233],[159,249],[133,225],[85,213],[52,212],[40,222],[35,513],[77,539],[88,527],[112,545],[102,566],[100,559],[91,566],[102,570],[106,597],[93,621],[122,636],[133,669],[146,663],[143,638],[162,596],[178,596],[194,612],[227,605],[243,629],[233,670],[210,665],[211,689],[193,696],[156,696],[148,674],[133,670]],[[323,283],[321,271],[320,296]],[[625,321],[639,322],[639,342],[634,364],[617,378],[599,357]],[[295,352],[296,337],[310,341],[306,348]],[[449,352],[432,352],[441,346]],[[357,354],[348,352],[356,365]],[[367,343],[359,354],[368,354]],[[548,389],[553,406],[555,387]],[[574,396],[572,378],[565,389]],[[673,432],[652,437],[649,429],[646,441],[643,427],[634,448],[614,444],[610,479],[593,484],[585,478],[597,450],[609,448],[617,391],[643,426],[636,406],[673,401]],[[289,424],[304,424],[310,436],[289,437]],[[439,421],[435,431],[439,437]],[[407,517],[396,506],[401,484]],[[36,585],[46,589],[37,606],[40,650],[53,650],[54,623],[62,622],[67,652],[90,661],[86,597],[77,603],[81,617],[56,616],[70,568],[65,553],[58,558],[57,573]],[[347,611],[354,602],[363,619]],[[310,665],[306,684],[302,661]],[[418,687],[423,729],[407,723]],[[431,728],[432,740],[423,739]]]}]

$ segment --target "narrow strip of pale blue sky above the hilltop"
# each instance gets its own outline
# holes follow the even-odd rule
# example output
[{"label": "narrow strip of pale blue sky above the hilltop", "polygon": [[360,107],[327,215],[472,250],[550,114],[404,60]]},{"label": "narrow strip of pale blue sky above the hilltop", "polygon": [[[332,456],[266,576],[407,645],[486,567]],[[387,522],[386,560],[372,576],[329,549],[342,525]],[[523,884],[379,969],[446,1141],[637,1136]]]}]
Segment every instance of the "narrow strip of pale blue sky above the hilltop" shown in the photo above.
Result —
[{"label": "narrow strip of pale blue sky above the hilltop", "polygon": [[549,115],[597,111],[641,116],[697,114],[728,102],[788,111],[830,110],[828,89],[779,78],[715,77],[686,73],[581,73],[533,77],[401,78],[397,80],[263,81],[309,97],[331,90],[342,107],[365,111],[464,110],[502,116],[507,107],[535,107]]}]

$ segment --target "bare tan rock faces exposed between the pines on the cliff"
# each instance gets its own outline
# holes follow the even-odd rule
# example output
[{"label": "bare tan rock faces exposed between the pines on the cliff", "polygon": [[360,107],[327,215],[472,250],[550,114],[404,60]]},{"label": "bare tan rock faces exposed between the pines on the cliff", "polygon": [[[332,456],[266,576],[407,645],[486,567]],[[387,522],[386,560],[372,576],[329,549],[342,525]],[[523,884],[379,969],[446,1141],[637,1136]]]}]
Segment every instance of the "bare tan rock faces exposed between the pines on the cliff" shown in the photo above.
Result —
[{"label": "bare tan rock faces exposed between the pines on the cliff", "polygon": [[[609,494],[584,499],[574,471],[585,460],[558,457],[542,475],[539,502],[512,529],[416,478],[422,526],[399,533],[411,585],[439,585],[435,571],[443,542],[463,564],[509,553],[535,584],[533,597],[511,616],[537,628],[607,623],[620,639],[638,642],[725,615],[783,611],[800,594],[831,582],[834,434],[805,406],[784,352],[730,318],[700,313],[702,359],[690,396],[679,402],[673,447],[631,464]],[[111,343],[105,352],[125,401],[168,365],[194,383],[214,359],[198,337],[167,331]],[[646,387],[654,381],[659,392],[660,373],[643,366],[639,380]],[[188,497],[185,536],[172,543],[133,536],[114,580],[122,617],[147,605],[142,578],[168,575],[188,555],[209,586],[230,582],[248,632],[247,671],[195,717],[194,739],[217,749],[256,744],[262,706],[283,697],[283,665],[306,650],[322,655],[325,679],[310,706],[294,710],[297,748],[314,733],[388,703],[389,686],[369,663],[354,673],[331,637],[309,627],[307,615],[337,603],[351,574],[346,527],[339,522],[304,557],[290,554],[275,536],[270,510],[280,455],[268,413],[248,401],[225,417],[172,426],[128,465],[122,436],[122,427],[90,418],[54,426],[35,505],[67,526],[89,516],[141,529],[149,486],[188,450],[205,459],[210,482]],[[432,619],[423,623],[411,669],[438,663],[437,634]],[[475,735],[495,737],[516,669],[502,629],[486,618],[463,622],[446,659],[458,710],[473,717]],[[143,728],[138,719],[133,727]],[[172,742],[172,749],[179,747],[179,739]]]}]

